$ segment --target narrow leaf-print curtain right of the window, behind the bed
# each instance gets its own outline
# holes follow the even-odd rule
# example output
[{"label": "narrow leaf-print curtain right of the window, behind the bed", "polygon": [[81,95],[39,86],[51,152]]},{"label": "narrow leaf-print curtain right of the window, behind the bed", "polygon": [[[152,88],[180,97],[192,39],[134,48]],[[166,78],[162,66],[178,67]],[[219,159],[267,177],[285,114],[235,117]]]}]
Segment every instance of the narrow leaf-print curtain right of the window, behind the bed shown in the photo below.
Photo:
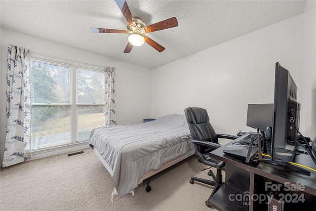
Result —
[{"label": "narrow leaf-print curtain right of the window, behind the bed", "polygon": [[105,68],[105,94],[107,95],[106,106],[106,126],[117,125],[115,108],[115,71],[114,67]]}]

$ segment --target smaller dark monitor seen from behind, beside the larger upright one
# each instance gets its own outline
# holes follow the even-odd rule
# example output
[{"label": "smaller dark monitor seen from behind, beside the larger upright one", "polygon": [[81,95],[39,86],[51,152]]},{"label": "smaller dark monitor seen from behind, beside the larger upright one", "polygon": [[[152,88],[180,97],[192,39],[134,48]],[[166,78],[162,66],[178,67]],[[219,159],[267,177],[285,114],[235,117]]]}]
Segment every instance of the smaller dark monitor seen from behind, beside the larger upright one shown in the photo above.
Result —
[{"label": "smaller dark monitor seen from behind, beside the larger upright one", "polygon": [[265,132],[272,127],[274,104],[248,104],[247,126]]}]

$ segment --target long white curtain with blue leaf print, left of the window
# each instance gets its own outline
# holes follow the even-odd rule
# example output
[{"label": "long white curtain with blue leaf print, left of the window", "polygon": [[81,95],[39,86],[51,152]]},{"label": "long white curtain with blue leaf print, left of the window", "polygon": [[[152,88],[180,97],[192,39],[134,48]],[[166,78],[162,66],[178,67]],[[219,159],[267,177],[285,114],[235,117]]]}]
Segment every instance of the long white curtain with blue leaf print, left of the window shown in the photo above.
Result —
[{"label": "long white curtain with blue leaf print, left of the window", "polygon": [[29,50],[9,44],[6,136],[2,167],[31,159],[31,86]]}]

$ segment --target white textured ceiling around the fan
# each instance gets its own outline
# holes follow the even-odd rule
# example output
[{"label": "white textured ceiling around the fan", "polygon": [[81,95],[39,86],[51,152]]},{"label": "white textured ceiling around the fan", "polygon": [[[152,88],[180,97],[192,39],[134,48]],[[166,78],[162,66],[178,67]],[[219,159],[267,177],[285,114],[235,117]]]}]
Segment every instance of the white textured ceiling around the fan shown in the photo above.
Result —
[{"label": "white textured ceiling around the fan", "polygon": [[166,49],[145,43],[123,53],[127,34],[92,33],[90,27],[126,29],[114,0],[0,0],[1,28],[83,49],[149,69],[256,31],[304,12],[305,0],[127,0],[146,25],[170,17],[178,27],[147,34]]}]

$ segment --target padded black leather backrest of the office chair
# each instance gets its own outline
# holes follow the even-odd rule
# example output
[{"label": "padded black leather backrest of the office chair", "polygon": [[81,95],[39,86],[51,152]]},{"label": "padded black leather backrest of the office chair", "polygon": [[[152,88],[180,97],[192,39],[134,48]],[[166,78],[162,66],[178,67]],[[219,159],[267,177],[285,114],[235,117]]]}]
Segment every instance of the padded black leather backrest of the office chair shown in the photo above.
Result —
[{"label": "padded black leather backrest of the office chair", "polygon": [[218,144],[217,134],[209,122],[205,109],[189,107],[184,110],[184,113],[193,139],[211,141]]}]

